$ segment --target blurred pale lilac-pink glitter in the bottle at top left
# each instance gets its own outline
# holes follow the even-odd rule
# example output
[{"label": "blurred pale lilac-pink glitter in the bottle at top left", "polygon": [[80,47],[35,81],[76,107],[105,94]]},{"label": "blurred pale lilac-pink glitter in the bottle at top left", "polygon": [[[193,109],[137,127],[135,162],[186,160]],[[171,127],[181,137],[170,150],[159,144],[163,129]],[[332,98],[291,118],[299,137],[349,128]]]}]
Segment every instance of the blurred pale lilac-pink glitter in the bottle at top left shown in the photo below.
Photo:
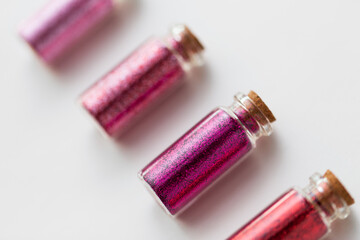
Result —
[{"label": "blurred pale lilac-pink glitter in the bottle at top left", "polygon": [[20,35],[52,63],[113,8],[113,0],[53,0],[22,26]]}]

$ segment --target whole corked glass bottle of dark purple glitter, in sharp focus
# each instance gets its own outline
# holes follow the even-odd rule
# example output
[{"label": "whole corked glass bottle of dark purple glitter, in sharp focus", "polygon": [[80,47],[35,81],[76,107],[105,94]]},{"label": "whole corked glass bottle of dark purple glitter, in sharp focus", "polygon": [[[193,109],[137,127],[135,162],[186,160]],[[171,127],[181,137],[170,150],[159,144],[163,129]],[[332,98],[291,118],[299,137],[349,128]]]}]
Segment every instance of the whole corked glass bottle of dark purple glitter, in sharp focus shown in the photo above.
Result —
[{"label": "whole corked glass bottle of dark purple glitter, in sharp focus", "polygon": [[275,117],[253,91],[237,94],[197,123],[140,173],[167,213],[178,214],[215,180],[241,162]]}]

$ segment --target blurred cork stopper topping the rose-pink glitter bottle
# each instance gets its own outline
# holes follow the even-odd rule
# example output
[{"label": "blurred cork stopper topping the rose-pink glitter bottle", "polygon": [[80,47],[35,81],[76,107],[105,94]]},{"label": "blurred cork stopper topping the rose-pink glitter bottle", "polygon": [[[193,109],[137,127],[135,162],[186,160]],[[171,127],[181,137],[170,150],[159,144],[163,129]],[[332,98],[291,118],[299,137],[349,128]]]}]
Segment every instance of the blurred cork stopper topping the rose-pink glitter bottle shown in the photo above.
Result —
[{"label": "blurred cork stopper topping the rose-pink glitter bottle", "polygon": [[184,49],[181,53],[184,59],[191,59],[204,50],[204,46],[186,25],[178,24],[172,28],[172,32]]}]

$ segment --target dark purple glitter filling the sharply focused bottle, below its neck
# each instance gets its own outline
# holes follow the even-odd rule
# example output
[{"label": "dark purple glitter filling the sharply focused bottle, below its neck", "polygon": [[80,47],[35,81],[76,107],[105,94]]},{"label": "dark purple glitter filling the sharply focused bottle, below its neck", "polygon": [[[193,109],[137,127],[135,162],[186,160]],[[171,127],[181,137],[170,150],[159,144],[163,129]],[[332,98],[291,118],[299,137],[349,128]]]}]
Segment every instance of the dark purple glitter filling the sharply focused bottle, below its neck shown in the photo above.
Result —
[{"label": "dark purple glitter filling the sharply focused bottle, below its neck", "polygon": [[[246,119],[246,123],[254,121]],[[146,166],[140,176],[174,215],[252,148],[242,124],[219,108]]]}]

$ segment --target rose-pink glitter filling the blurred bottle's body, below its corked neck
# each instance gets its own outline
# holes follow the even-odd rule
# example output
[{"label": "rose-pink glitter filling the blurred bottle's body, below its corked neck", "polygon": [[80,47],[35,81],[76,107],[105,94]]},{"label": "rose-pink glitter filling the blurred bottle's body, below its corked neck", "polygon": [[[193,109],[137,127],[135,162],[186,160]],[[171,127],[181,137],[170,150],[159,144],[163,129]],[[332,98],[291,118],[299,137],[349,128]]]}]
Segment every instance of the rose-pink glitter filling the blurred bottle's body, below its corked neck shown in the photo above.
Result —
[{"label": "rose-pink glitter filling the blurred bottle's body, below its corked neck", "polygon": [[174,53],[153,39],[88,89],[81,102],[109,135],[118,135],[183,82],[184,74]]}]

